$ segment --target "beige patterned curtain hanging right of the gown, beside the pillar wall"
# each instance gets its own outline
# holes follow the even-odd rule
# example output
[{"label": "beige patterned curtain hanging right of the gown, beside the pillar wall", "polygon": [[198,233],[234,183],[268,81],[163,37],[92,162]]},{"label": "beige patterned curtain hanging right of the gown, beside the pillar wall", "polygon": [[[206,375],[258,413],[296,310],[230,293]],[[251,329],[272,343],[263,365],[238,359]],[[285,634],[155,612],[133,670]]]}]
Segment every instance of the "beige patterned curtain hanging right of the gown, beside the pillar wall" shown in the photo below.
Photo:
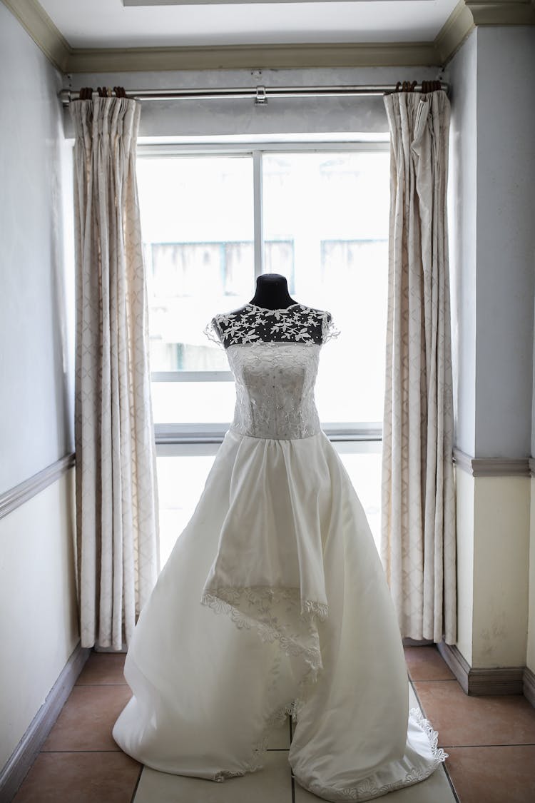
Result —
[{"label": "beige patterned curtain hanging right of the gown, beside the pillar wall", "polygon": [[385,97],[391,131],[381,551],[402,636],[456,640],[449,102]]}]

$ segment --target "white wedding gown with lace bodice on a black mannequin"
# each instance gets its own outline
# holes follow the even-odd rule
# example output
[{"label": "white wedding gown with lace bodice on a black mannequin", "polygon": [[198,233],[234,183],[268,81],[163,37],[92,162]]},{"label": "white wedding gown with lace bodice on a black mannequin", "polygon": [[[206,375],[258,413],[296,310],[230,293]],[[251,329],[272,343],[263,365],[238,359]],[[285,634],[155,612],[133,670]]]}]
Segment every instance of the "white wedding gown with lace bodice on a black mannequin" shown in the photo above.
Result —
[{"label": "white wedding gown with lace bodice on a black mannequin", "polygon": [[383,568],[314,404],[330,315],[247,304],[213,328],[235,418],[140,614],[113,736],[149,767],[222,781],[260,768],[291,713],[290,765],[319,797],[367,801],[422,781],[446,756],[407,710]]}]

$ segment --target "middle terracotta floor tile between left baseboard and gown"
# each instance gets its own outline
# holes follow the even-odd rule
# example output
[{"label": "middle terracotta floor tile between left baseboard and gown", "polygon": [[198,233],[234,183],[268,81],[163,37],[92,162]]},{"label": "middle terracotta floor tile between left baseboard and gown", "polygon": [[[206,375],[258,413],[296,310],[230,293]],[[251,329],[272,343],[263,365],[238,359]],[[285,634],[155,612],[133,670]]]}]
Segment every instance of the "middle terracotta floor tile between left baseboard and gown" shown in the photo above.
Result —
[{"label": "middle terracotta floor tile between left baseboard and gown", "polygon": [[43,751],[119,750],[111,728],[131,696],[128,686],[75,686]]}]

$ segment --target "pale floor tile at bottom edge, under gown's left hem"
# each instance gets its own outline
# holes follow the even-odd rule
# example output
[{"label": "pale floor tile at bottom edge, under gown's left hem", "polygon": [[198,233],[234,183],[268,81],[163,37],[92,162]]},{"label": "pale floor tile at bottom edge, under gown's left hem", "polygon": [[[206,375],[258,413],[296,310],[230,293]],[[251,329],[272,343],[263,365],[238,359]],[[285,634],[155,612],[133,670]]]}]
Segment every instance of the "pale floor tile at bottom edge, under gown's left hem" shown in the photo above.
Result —
[{"label": "pale floor tile at bottom edge, under gown's left hem", "polygon": [[263,769],[221,784],[144,767],[134,803],[292,803],[288,753],[268,752]]}]

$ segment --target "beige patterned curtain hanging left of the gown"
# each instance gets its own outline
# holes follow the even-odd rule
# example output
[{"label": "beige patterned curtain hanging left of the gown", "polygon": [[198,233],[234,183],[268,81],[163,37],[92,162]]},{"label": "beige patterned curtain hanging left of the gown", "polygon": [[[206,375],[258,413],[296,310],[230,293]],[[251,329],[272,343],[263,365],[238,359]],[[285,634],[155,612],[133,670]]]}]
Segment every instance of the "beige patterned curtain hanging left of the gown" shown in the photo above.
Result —
[{"label": "beige patterned curtain hanging left of the gown", "polygon": [[[89,92],[91,96],[91,92]],[[139,104],[75,124],[77,560],[82,646],[120,650],[156,582],[156,452],[136,187]]]}]

